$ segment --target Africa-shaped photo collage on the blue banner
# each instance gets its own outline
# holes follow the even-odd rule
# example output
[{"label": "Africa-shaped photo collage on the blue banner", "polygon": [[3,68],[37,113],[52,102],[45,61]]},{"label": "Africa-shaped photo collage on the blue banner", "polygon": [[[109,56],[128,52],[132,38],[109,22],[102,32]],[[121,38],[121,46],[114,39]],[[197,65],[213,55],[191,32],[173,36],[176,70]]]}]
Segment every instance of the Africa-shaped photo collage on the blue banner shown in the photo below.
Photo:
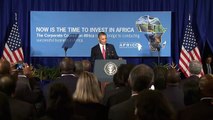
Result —
[{"label": "Africa-shaped photo collage on the blue banner", "polygon": [[159,51],[160,48],[166,46],[166,41],[162,43],[161,37],[166,32],[159,18],[151,17],[149,15],[141,16],[136,21],[136,27],[139,32],[143,32],[148,40],[151,51]]}]

